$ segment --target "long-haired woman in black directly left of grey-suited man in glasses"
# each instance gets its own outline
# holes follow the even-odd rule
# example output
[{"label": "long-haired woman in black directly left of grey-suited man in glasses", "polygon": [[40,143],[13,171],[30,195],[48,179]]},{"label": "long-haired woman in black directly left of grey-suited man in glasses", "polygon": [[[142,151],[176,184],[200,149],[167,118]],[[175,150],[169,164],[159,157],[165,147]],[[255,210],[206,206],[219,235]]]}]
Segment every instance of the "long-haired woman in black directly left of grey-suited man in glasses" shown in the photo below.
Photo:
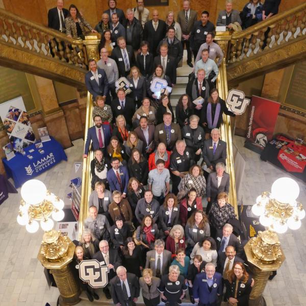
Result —
[{"label": "long-haired woman in black directly left of grey-suited man in glasses", "polygon": [[143,256],[140,247],[135,245],[133,238],[126,239],[122,254],[122,265],[126,268],[126,271],[140,277],[140,271],[143,269]]}]

